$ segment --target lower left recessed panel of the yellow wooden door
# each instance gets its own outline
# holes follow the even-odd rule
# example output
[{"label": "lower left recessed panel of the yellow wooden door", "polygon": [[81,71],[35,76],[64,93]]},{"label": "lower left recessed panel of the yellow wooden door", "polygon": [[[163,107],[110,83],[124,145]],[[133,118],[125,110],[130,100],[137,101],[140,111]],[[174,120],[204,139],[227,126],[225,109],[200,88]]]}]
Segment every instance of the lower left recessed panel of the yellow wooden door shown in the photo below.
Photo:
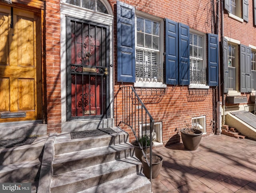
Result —
[{"label": "lower left recessed panel of the yellow wooden door", "polygon": [[0,111],[10,111],[9,78],[0,78]]}]

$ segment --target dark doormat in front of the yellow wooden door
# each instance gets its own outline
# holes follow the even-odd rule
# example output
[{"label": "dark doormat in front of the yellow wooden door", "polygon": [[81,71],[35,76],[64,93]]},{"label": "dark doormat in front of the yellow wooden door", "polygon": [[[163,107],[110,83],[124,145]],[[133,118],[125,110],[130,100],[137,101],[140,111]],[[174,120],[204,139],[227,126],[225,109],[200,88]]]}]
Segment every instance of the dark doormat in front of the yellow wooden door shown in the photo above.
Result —
[{"label": "dark doormat in front of the yellow wooden door", "polygon": [[20,137],[15,139],[0,140],[0,148],[29,145],[35,141],[36,137]]}]

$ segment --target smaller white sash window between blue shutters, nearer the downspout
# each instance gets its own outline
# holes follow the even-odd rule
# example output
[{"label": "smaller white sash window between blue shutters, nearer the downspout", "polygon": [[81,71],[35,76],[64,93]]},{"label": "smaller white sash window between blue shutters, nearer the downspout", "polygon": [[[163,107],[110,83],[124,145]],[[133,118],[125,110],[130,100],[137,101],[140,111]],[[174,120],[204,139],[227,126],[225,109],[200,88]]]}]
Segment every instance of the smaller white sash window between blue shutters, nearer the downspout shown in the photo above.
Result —
[{"label": "smaller white sash window between blue shutters, nearer the downspout", "polygon": [[206,85],[205,37],[190,33],[190,84]]}]

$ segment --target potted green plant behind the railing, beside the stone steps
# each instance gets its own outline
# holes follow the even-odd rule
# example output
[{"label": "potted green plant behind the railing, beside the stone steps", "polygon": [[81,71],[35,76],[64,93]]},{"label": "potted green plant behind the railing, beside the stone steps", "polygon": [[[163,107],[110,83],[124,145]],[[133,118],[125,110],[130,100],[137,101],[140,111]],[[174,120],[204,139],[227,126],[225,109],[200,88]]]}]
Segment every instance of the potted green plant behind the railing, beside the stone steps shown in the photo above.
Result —
[{"label": "potted green plant behind the railing, beside the stone steps", "polygon": [[[135,149],[135,156],[141,161],[141,157],[143,155],[141,149],[140,149],[140,146],[139,144],[142,146],[143,145],[143,151],[145,154],[149,153],[150,151],[150,135],[149,133],[145,133],[144,135],[142,136],[139,136],[138,138],[138,141],[134,140],[132,141],[132,145],[134,146],[134,149]],[[153,142],[151,141],[152,145],[153,145]]]}]

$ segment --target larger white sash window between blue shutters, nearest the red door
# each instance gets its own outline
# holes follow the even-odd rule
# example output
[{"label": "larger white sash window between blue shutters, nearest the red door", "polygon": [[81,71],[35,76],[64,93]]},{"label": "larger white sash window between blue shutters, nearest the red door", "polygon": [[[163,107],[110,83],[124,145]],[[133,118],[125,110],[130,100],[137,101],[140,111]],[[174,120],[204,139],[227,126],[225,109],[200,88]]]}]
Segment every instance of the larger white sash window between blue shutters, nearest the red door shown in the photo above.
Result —
[{"label": "larger white sash window between blue shutters, nearest the red door", "polygon": [[160,21],[136,17],[136,82],[163,82]]}]

